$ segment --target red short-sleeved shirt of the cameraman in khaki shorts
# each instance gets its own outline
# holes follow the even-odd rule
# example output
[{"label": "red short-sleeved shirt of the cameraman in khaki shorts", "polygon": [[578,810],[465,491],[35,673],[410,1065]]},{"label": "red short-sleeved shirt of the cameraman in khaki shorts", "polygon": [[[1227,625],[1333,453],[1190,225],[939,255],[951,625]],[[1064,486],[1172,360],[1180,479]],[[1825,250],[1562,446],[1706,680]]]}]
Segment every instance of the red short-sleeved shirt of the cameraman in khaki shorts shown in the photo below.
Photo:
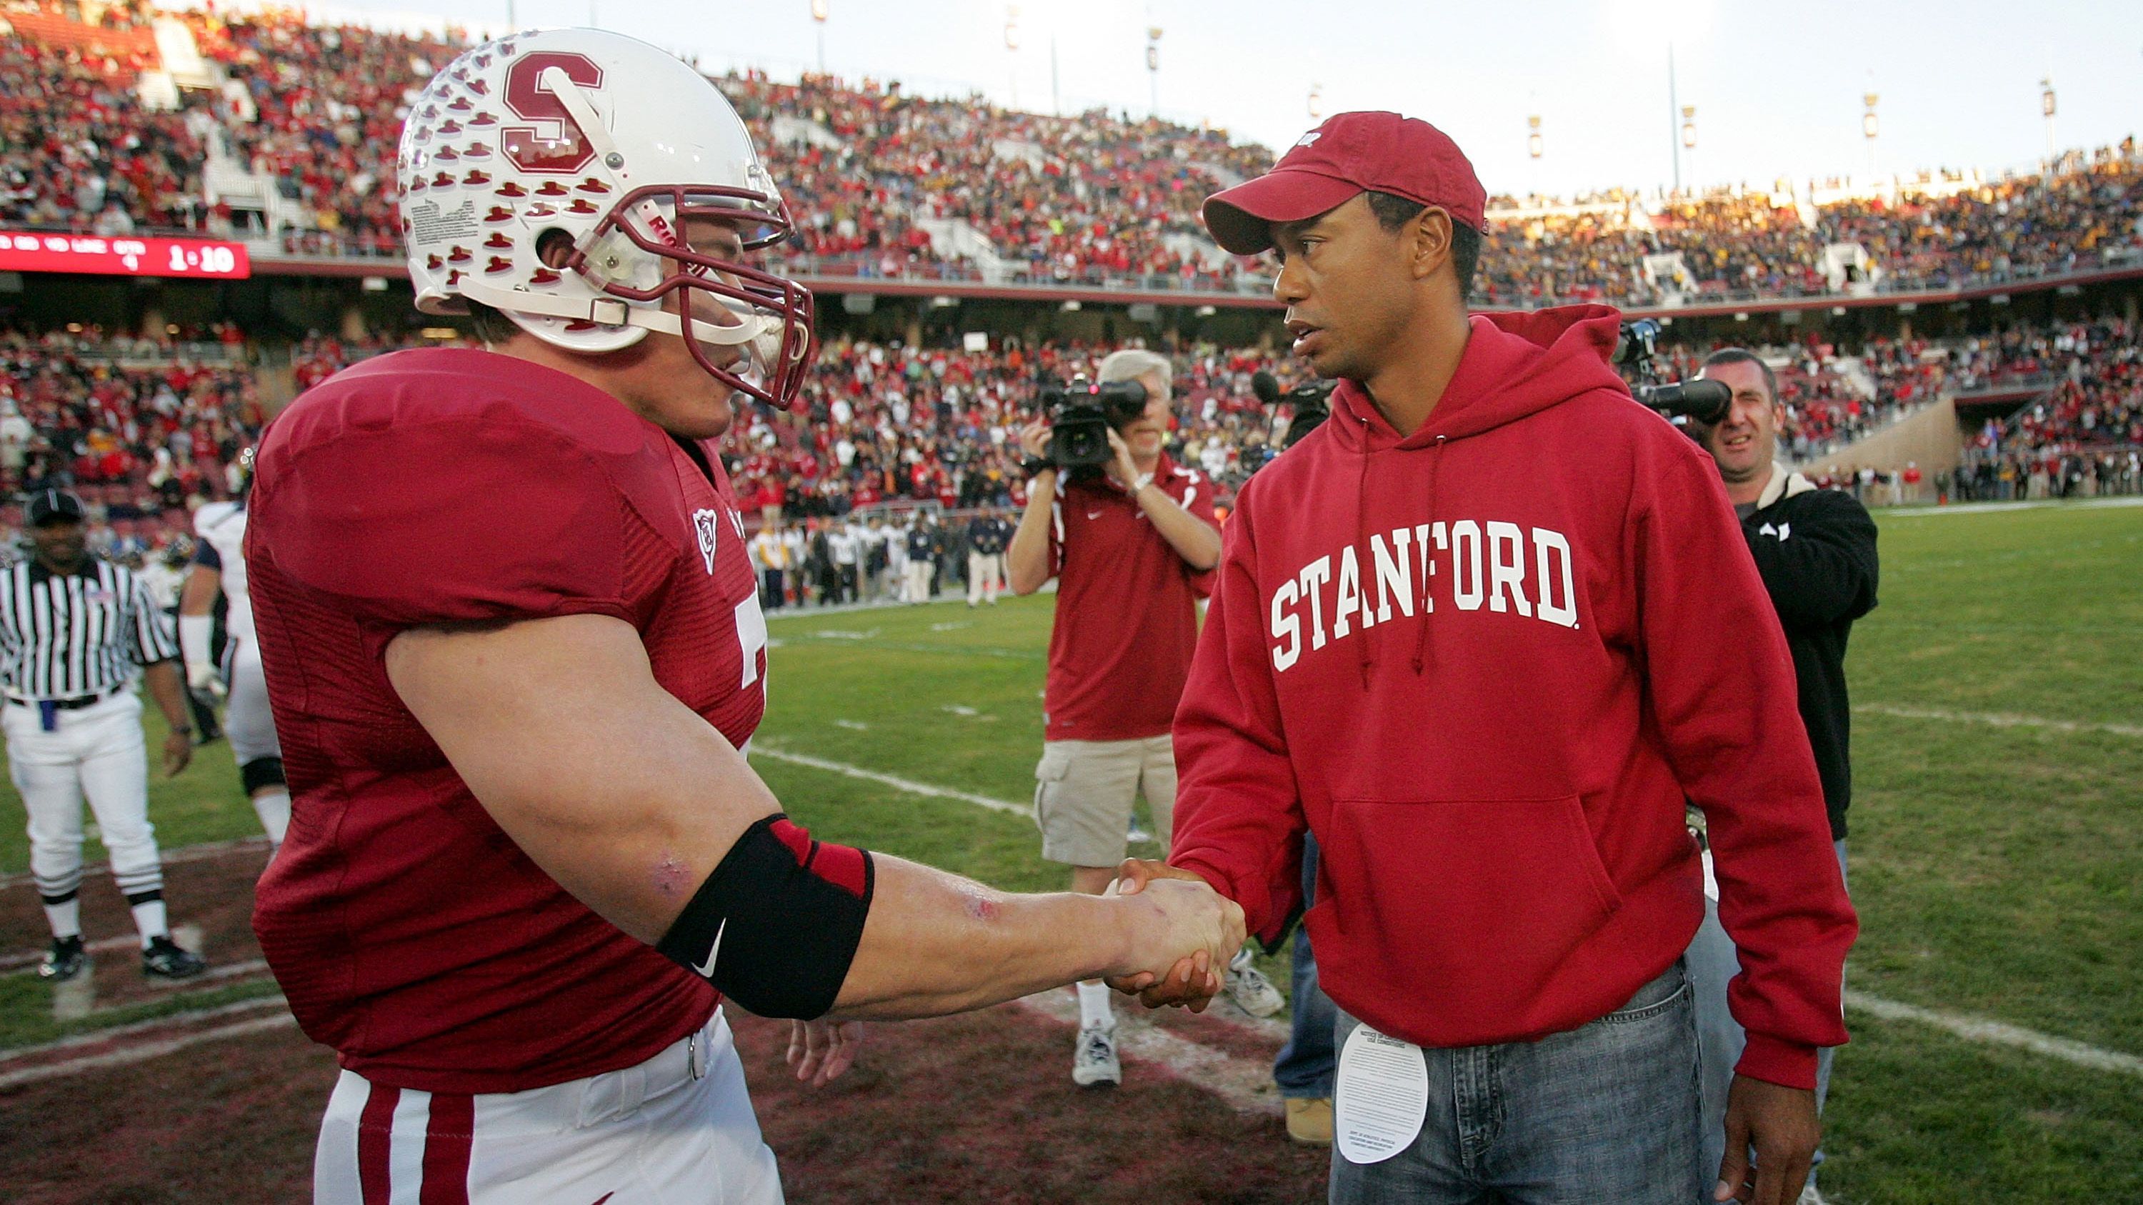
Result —
[{"label": "red short-sleeved shirt of the cameraman in khaki shorts", "polygon": [[[1219,527],[1213,487],[1162,455],[1153,485]],[[1110,480],[1082,480],[1050,515],[1056,626],[1041,699],[1046,740],[1164,735],[1198,648],[1198,572],[1153,530],[1138,500]]]}]

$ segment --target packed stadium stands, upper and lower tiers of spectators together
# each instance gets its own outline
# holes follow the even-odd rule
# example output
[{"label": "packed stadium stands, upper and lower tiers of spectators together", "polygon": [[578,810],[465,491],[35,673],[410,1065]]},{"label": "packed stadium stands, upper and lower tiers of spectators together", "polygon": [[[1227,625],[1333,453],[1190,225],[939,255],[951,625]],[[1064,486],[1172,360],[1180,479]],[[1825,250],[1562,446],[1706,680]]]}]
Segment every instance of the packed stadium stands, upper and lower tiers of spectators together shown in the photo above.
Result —
[{"label": "packed stadium stands, upper and lower tiers of spectators together", "polygon": [[[195,229],[257,255],[399,255],[392,154],[411,88],[459,39],[309,21],[291,9],[174,11],[13,0],[0,36],[0,221],[101,234]],[[176,39],[176,43],[174,43]],[[191,41],[186,79],[163,56]],[[816,277],[1262,292],[1269,268],[1219,253],[1198,204],[1271,163],[1222,131],[1106,111],[1020,114],[896,81],[763,73],[718,79],[767,148],[799,217],[780,266]],[[156,96],[163,96],[159,101]],[[249,184],[251,182],[251,184]],[[246,193],[246,189],[253,193]],[[2143,268],[2134,144],[2068,154],[2044,176],[1933,176],[1886,193],[1824,182],[1702,197],[1496,197],[1474,302],[1624,307],[1826,298]],[[159,319],[161,322],[161,319]],[[236,328],[201,341],[0,337],[0,485],[71,482],[148,532],[234,487],[259,425]],[[1811,332],[1766,347],[1787,407],[1783,450],[1813,459],[1937,395],[2029,399],[1989,425],[1961,495],[2137,489],[2143,362],[2128,322],[2017,326],[1976,339]],[[266,349],[298,390],[379,343]],[[748,412],[729,442],[739,495],[795,515],[879,504],[1009,504],[1035,382],[1091,369],[1082,343],[990,352],[834,339],[810,414]],[[287,356],[287,362],[285,362]],[[1674,354],[1689,375],[1702,352]],[[1254,349],[1177,349],[1174,455],[1232,491],[1277,444]],[[281,377],[279,377],[281,382]],[[1984,478],[1984,480],[1982,480]],[[176,510],[174,510],[176,515]]]}]

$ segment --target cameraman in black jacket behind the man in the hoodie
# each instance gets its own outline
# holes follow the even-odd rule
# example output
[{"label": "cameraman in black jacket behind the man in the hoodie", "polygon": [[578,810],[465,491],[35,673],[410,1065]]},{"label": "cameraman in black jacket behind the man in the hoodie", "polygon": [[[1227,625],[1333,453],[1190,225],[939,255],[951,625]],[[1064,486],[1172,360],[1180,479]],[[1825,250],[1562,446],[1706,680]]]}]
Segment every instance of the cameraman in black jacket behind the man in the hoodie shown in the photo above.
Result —
[{"label": "cameraman in black jacket behind the man in the hoodie", "polygon": [[[1875,521],[1843,489],[1815,489],[1809,478],[1772,463],[1785,407],[1779,405],[1779,380],[1770,365],[1753,352],[1721,347],[1704,360],[1699,375],[1734,390],[1727,414],[1712,427],[1693,425],[1691,433],[1699,435],[1697,442],[1719,463],[1749,553],[1755,555],[1764,590],[1785,628],[1785,645],[1794,654],[1800,723],[1809,729],[1815,770],[1824,780],[1830,840],[1839,851],[1843,877],[1845,806],[1852,802],[1854,783],[1847,757],[1852,712],[1845,705],[1845,639],[1854,630],[1854,620],[1875,609]],[[1723,1154],[1727,1083],[1744,1044],[1742,1027],[1727,1012],[1727,980],[1740,971],[1740,961],[1734,956],[1734,941],[1719,924],[1719,901],[1712,896],[1717,890],[1706,892],[1704,926],[1689,946],[1706,1166],[1717,1166]],[[1832,1048],[1824,1046],[1815,1061],[1817,1111],[1830,1091],[1830,1055]],[[1817,1149],[1802,1201],[1822,1201],[1815,1194],[1815,1169],[1822,1162],[1824,1151]]]}]

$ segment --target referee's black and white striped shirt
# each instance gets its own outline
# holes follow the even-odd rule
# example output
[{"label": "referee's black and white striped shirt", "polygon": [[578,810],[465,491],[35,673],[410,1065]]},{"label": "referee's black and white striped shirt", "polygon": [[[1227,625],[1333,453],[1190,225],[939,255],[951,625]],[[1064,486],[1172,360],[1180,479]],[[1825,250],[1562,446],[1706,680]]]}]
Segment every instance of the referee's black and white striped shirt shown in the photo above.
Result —
[{"label": "referee's black and white striped shirt", "polygon": [[0,684],[13,699],[79,699],[178,656],[156,598],[126,566],[84,557],[54,575],[34,557],[0,570]]}]

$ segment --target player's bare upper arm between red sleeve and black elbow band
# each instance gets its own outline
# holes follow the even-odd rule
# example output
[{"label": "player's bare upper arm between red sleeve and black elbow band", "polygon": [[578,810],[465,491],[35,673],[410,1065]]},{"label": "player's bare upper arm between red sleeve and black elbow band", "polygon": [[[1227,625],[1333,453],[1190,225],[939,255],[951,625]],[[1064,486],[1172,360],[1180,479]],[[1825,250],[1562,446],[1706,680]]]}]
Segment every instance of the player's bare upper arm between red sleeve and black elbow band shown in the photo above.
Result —
[{"label": "player's bare upper arm between red sleeve and black elbow band", "polygon": [[662,690],[606,615],[411,628],[388,680],[546,875],[656,943],[737,836],[780,810],[744,757]]}]

